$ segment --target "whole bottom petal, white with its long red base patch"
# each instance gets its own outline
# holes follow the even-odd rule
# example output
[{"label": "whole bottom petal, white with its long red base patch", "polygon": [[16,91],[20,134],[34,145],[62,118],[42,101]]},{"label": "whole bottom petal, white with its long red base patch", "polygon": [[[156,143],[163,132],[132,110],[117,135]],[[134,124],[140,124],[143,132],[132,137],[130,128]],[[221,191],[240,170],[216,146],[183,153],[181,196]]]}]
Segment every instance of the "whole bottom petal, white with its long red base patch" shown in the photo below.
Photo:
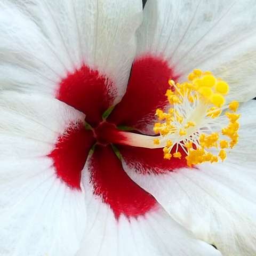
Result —
[{"label": "whole bottom petal, white with its long red base patch", "polygon": [[220,255],[175,223],[122,169],[110,146],[97,146],[83,170],[87,222],[77,256]]}]

